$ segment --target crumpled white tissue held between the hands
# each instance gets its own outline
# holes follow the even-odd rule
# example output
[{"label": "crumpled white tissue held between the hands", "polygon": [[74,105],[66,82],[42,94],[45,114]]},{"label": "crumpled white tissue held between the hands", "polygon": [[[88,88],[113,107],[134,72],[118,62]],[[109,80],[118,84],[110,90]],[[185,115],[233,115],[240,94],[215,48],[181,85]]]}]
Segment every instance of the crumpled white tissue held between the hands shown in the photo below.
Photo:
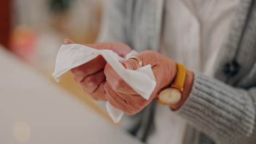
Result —
[{"label": "crumpled white tissue held between the hands", "polygon": [[[132,51],[123,58],[112,50],[96,50],[79,44],[62,45],[57,53],[53,77],[59,82],[60,76],[66,73],[66,71],[87,63],[98,55],[102,55],[109,65],[132,89],[148,100],[156,86],[151,65],[146,65],[136,70],[130,70],[125,69],[120,63],[126,61],[129,57],[136,55],[136,53],[137,52]],[[113,121],[115,123],[119,122],[124,112],[113,107],[108,102],[106,103],[106,107],[109,116]]]}]

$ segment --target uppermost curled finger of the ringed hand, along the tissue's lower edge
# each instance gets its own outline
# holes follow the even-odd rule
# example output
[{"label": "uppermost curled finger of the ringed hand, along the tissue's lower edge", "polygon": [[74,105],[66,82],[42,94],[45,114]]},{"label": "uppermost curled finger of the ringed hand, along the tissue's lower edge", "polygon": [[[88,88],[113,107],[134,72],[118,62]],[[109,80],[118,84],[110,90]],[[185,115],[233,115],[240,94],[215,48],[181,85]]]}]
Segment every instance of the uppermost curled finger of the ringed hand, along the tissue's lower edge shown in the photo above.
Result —
[{"label": "uppermost curled finger of the ringed hand, along the tissue's lower edge", "polygon": [[108,79],[107,81],[109,85],[114,89],[114,91],[124,94],[138,94],[115,72],[115,70],[108,63],[104,68],[104,74]]}]

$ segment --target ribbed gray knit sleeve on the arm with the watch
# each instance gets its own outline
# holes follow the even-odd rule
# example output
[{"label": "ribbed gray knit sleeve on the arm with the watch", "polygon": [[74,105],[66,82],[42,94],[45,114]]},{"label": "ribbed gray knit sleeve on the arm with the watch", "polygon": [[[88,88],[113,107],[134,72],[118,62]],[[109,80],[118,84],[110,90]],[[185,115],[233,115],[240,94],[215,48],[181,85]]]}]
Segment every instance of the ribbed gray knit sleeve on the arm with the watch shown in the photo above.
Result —
[{"label": "ribbed gray knit sleeve on the arm with the watch", "polygon": [[194,73],[193,88],[177,111],[217,143],[256,143],[256,88],[248,91]]}]

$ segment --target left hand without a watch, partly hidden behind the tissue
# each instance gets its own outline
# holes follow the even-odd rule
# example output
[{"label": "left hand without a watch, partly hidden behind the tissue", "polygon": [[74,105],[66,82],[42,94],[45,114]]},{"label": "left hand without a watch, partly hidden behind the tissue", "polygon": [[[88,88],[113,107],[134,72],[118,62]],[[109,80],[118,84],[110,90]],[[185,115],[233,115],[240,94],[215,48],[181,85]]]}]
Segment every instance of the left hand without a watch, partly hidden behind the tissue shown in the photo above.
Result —
[{"label": "left hand without a watch, partly hidden behind the tissue", "polygon": [[[68,39],[64,40],[65,44],[73,44],[74,42]],[[113,50],[119,56],[125,57],[127,53],[131,52],[129,46],[122,43],[101,43],[85,45],[97,50],[107,49]],[[90,62],[80,65],[79,67],[71,69],[74,80],[77,81],[86,93],[89,93],[95,100],[106,101],[104,83],[106,83],[106,76],[104,74],[104,67],[106,61],[102,56],[92,59]]]}]

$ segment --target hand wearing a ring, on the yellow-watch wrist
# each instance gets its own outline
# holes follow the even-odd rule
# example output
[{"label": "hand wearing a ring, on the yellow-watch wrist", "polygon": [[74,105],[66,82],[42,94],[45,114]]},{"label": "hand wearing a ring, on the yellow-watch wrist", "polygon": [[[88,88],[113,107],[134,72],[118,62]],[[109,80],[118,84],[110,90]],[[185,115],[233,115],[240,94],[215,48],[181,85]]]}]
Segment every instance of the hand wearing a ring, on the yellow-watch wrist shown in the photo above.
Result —
[{"label": "hand wearing a ring, on the yellow-watch wrist", "polygon": [[[124,111],[128,115],[134,115],[147,106],[156,97],[159,90],[169,86],[176,75],[176,63],[170,58],[160,55],[155,51],[144,51],[137,55],[141,59],[143,66],[151,64],[156,79],[156,87],[149,100],[146,100],[136,93],[115,71],[106,64],[104,74],[105,96],[109,103],[114,107]],[[129,59],[123,63],[126,69],[137,69],[139,63],[136,59]]]}]

